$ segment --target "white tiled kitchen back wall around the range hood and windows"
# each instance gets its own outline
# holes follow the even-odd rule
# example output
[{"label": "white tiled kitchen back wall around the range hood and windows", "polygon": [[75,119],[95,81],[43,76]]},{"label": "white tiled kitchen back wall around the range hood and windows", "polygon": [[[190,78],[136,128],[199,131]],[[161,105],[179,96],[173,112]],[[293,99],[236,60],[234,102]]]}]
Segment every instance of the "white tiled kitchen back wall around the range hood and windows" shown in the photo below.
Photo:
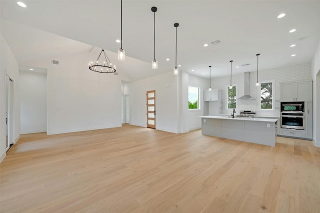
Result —
[{"label": "white tiled kitchen back wall around the range hood and windows", "polygon": [[[311,63],[303,63],[286,67],[259,70],[259,81],[274,80],[275,82],[275,109],[258,109],[258,87],[255,86],[256,71],[249,74],[249,93],[255,100],[237,100],[236,114],[240,110],[256,110],[257,115],[279,116],[280,114],[280,84],[291,80],[311,80]],[[222,89],[222,100],[226,100],[226,86],[230,84],[230,76],[211,79],[212,89]],[[237,96],[244,95],[244,74],[232,75],[232,84],[237,84]],[[222,114],[229,114],[231,110],[222,110]]]}]

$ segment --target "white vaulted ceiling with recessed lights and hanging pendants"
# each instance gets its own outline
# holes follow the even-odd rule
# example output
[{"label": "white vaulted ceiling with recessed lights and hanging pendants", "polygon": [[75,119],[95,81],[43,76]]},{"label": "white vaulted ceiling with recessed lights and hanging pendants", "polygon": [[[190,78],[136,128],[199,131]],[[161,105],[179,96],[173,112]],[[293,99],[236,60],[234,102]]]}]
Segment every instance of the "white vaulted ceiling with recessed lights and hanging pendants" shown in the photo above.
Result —
[{"label": "white vaulted ceiling with recessed lights and hanging pendants", "polygon": [[[112,52],[120,48],[115,42],[120,38],[120,0],[23,2],[26,8],[18,6],[16,0],[0,0],[1,33],[20,64],[89,51],[92,46]],[[158,9],[158,70],[151,69],[152,6]],[[132,80],[173,70],[175,22],[179,23],[179,70],[194,75],[208,77],[208,65],[212,65],[212,77],[229,75],[229,60],[233,60],[232,74],[256,71],[256,53],[260,53],[259,70],[310,62],[320,39],[319,11],[319,0],[123,0],[122,48],[126,60],[113,63],[122,64],[117,65],[117,71]],[[277,18],[282,12],[286,15]],[[292,28],[296,31],[289,33]],[[220,44],[210,44],[217,39]],[[204,47],[204,43],[209,45]],[[289,47],[293,43],[296,46]],[[250,65],[242,67],[245,63]],[[237,65],[240,67],[235,68]],[[135,72],[139,66],[149,70]]]}]

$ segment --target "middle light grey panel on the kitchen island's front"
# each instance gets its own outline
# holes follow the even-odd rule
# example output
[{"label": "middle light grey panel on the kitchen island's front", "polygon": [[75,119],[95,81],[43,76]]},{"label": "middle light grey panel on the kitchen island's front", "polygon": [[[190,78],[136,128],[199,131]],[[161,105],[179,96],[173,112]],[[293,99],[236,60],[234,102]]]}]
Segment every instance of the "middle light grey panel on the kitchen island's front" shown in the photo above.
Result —
[{"label": "middle light grey panel on the kitchen island's front", "polygon": [[244,120],[221,120],[221,137],[244,140]]}]

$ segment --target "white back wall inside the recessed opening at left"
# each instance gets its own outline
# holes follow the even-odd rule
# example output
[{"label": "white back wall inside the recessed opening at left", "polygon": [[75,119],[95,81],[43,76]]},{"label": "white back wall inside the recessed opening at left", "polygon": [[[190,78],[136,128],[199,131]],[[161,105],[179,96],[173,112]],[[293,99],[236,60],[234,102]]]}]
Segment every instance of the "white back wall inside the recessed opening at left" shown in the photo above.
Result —
[{"label": "white back wall inside the recessed opening at left", "polygon": [[46,131],[46,73],[19,71],[20,134]]}]

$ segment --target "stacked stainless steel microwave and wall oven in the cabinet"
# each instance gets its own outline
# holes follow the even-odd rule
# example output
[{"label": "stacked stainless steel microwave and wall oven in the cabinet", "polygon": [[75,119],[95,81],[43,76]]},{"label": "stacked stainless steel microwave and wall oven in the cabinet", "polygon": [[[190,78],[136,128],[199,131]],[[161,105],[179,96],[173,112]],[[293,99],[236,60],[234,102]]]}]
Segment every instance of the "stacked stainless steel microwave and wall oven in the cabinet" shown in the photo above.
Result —
[{"label": "stacked stainless steel microwave and wall oven in the cabinet", "polygon": [[305,129],[304,102],[281,102],[280,127]]}]

